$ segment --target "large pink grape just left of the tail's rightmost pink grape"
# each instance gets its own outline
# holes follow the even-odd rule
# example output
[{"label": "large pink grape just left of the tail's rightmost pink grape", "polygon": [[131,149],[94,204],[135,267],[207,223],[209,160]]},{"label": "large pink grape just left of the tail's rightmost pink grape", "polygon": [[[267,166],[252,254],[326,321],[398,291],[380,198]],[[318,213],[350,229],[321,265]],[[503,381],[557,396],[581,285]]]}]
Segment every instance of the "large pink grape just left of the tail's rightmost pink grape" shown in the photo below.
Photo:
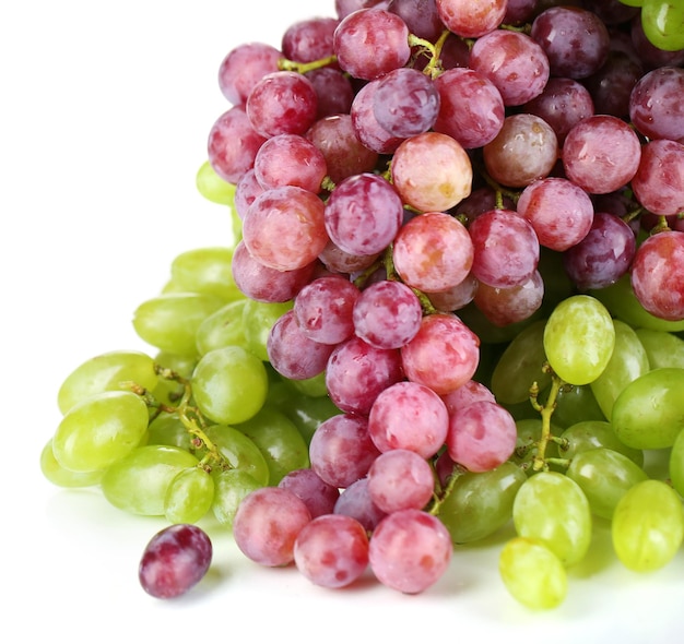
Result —
[{"label": "large pink grape just left of the tail's rightmost pink grape", "polygon": [[429,458],[443,446],[448,422],[447,407],[432,389],[402,381],[388,386],[375,399],[368,433],[380,452],[411,450]]}]

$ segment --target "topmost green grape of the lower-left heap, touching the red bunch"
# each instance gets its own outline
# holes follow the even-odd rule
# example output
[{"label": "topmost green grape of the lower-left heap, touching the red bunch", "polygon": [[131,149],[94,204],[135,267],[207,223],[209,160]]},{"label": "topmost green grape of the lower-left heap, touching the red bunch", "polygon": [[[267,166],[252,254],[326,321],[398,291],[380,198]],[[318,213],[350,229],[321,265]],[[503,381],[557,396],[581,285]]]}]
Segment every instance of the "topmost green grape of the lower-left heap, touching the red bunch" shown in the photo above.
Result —
[{"label": "topmost green grape of the lower-left heap, touching the red bunch", "polygon": [[177,293],[212,295],[226,302],[245,296],[233,279],[233,249],[209,247],[177,255],[170,266],[170,285]]}]

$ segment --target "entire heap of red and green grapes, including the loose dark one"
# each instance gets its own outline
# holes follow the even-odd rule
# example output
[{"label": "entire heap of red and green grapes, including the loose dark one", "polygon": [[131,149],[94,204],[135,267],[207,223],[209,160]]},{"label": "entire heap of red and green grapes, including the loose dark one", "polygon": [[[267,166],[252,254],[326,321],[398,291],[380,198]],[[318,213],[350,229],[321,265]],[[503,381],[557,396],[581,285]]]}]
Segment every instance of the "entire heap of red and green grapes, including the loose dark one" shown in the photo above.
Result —
[{"label": "entire heap of red and green grapes, including the loose dark one", "polygon": [[337,0],[228,51],[197,186],[233,239],[135,310],[154,356],[66,378],[42,455],[169,523],[150,594],[202,579],[210,515],[259,564],[405,594],[499,535],[535,609],[597,522],[630,570],[676,556],[683,14]]}]

